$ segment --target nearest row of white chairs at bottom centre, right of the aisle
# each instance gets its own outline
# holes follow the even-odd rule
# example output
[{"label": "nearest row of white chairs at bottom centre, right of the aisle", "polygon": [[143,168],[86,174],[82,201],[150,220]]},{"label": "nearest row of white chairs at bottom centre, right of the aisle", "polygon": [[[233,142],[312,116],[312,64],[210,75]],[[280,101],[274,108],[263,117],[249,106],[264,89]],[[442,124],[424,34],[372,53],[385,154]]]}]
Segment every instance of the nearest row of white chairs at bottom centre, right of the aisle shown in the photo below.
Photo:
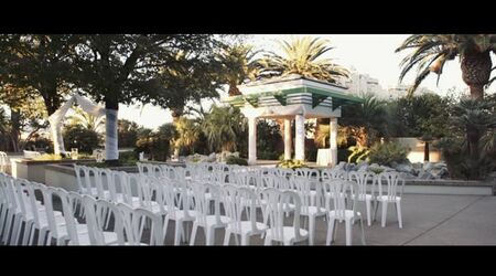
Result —
[{"label": "nearest row of white chairs at bottom centre, right of the aisle", "polygon": [[[274,188],[267,188],[259,191],[259,195],[249,188],[236,187],[233,184],[201,184],[192,183],[195,200],[195,221],[191,237],[191,245],[194,244],[198,227],[203,227],[206,236],[206,244],[214,243],[215,230],[225,229],[224,244],[228,245],[231,234],[241,236],[241,245],[249,244],[252,235],[265,235],[266,245],[272,241],[281,242],[284,245],[304,241],[308,232],[300,227],[300,197],[293,191],[280,191]],[[206,192],[215,199],[214,214],[208,212]],[[257,202],[265,202],[262,205],[263,223],[256,219]],[[220,214],[220,203],[225,214]],[[294,220],[291,226],[284,225],[284,214],[288,205],[294,208]],[[246,220],[242,219],[245,211]]]}]

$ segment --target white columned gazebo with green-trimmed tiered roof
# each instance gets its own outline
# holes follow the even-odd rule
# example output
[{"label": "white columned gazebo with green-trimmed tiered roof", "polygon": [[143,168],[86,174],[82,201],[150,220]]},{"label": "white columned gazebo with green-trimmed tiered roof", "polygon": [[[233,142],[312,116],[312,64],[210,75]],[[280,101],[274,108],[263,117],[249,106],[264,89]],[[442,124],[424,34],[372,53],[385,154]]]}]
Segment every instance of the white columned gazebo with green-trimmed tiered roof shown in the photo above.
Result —
[{"label": "white columned gazebo with green-trimmed tiered roof", "polygon": [[[349,95],[347,87],[327,82],[308,78],[301,75],[270,78],[238,86],[242,95],[224,99],[241,109],[248,118],[248,163],[257,162],[257,119],[284,119],[284,159],[291,159],[291,120],[295,123],[294,158],[305,159],[304,121],[310,118],[330,118],[330,161],[337,162],[337,118],[341,107],[352,103],[362,103],[358,97]],[[319,164],[319,162],[317,162]],[[321,163],[322,164],[322,163]]]}]

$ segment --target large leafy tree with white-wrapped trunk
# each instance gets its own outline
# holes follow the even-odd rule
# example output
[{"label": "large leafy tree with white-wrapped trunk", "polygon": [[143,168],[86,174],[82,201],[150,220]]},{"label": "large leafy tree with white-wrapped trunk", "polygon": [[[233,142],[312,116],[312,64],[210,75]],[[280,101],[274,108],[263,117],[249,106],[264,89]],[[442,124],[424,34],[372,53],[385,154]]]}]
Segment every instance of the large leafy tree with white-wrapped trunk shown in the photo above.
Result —
[{"label": "large leafy tree with white-wrapped trunk", "polygon": [[116,162],[119,104],[141,102],[182,114],[190,99],[215,95],[209,61],[218,41],[206,34],[82,35],[78,86],[106,106],[106,156]]}]

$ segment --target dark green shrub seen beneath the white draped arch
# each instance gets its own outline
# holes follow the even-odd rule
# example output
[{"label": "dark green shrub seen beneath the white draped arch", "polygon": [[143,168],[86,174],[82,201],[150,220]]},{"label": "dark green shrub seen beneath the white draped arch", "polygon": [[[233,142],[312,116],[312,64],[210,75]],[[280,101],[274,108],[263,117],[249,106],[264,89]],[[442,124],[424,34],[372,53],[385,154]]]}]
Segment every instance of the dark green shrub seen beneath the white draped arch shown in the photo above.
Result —
[{"label": "dark green shrub seen beneath the white draped arch", "polygon": [[98,134],[82,126],[69,126],[64,129],[64,146],[67,150],[77,148],[79,152],[93,153],[98,148]]}]

